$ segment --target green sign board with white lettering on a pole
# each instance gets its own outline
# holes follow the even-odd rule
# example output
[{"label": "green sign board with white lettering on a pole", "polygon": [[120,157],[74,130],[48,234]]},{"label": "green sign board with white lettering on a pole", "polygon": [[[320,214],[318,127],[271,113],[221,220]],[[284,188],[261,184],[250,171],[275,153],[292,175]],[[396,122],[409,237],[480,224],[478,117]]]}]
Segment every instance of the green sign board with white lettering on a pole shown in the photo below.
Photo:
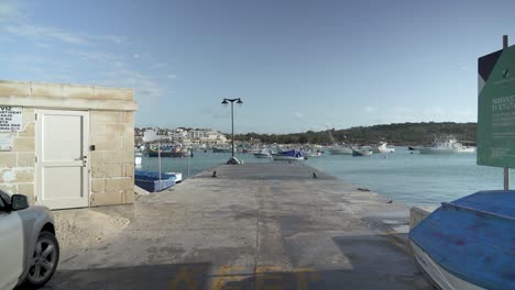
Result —
[{"label": "green sign board with white lettering on a pole", "polygon": [[478,164],[515,168],[515,46],[478,63]]}]

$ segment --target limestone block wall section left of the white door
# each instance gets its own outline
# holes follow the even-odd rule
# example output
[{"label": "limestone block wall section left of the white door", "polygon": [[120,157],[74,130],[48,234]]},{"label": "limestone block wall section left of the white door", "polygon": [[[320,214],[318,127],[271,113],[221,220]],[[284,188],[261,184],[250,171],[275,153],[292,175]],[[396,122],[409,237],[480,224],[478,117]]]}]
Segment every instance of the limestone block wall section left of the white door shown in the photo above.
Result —
[{"label": "limestone block wall section left of the white door", "polygon": [[0,189],[25,194],[34,204],[35,109],[23,109],[22,125],[20,132],[0,133],[13,138],[12,150],[0,150]]}]

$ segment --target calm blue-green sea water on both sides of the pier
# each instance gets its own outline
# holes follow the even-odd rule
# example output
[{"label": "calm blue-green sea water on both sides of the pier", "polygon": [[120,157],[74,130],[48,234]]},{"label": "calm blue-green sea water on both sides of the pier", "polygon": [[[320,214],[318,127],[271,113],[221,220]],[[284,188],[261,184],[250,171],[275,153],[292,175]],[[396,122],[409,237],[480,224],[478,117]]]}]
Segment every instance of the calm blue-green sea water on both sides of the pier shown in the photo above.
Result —
[{"label": "calm blue-green sea water on both sides of the pier", "polygon": [[[193,158],[162,158],[163,171],[184,178],[223,164],[230,154],[195,152]],[[245,163],[267,163],[237,154]],[[475,165],[475,154],[424,155],[397,147],[392,154],[370,157],[322,155],[304,161],[346,182],[365,187],[408,205],[437,205],[479,190],[503,188],[503,169]],[[143,157],[142,170],[157,170],[157,158]],[[515,180],[515,175],[512,175]]]}]

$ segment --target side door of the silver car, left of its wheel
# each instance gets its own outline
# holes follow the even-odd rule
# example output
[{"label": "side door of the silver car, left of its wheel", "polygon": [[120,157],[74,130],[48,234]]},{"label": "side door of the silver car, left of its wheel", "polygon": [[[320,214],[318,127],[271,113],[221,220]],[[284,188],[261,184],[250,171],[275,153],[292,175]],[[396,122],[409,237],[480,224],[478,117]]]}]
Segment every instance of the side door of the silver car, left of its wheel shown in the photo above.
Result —
[{"label": "side door of the silver car, left of its wheel", "polygon": [[23,272],[23,227],[0,194],[0,290],[14,288]]}]

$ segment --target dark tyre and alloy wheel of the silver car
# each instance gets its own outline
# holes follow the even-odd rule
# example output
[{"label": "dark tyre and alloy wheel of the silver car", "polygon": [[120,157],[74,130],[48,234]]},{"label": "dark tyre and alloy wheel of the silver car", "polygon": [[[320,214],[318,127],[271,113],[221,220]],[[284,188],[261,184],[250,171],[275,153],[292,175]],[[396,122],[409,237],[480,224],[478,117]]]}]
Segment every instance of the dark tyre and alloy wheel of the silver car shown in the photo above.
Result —
[{"label": "dark tyre and alloy wheel of the silver car", "polygon": [[25,285],[31,288],[44,286],[54,275],[59,261],[59,244],[50,232],[37,237],[32,259],[29,264]]}]

